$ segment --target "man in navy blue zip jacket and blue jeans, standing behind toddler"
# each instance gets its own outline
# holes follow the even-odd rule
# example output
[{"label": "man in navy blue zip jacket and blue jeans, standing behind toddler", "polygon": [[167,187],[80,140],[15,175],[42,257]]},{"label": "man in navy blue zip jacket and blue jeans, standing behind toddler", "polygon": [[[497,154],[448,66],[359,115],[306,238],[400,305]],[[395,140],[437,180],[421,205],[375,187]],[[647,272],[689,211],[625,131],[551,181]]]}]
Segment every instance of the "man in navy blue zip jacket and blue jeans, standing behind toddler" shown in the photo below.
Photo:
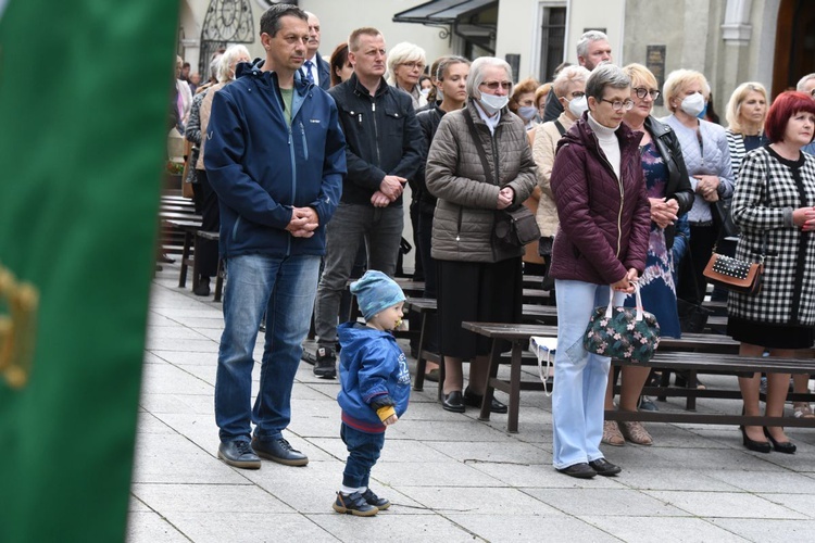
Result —
[{"label": "man in navy blue zip jacket and blue jeans, standing behind toddler", "polygon": [[[273,5],[261,17],[261,41],[265,61],[239,64],[237,79],[215,94],[204,156],[221,202],[221,254],[228,273],[215,381],[218,457],[250,469],[261,467],[259,455],[290,466],[309,463],[283,430],[291,418],[325,225],[346,173],[337,106],[298,72],[309,41],[305,13]],[[264,313],[266,341],[252,408],[252,351]]]}]

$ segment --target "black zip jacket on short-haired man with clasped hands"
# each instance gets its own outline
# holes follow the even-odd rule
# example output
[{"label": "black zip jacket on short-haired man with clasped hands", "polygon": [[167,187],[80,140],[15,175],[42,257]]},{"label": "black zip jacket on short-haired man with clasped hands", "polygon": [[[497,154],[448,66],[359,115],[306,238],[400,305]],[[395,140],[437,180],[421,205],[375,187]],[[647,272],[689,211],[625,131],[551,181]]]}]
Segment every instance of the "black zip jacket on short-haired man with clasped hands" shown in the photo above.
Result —
[{"label": "black zip jacket on short-haired man with clasped hands", "polygon": [[[339,109],[347,142],[342,202],[371,204],[386,175],[405,179],[416,175],[422,161],[422,131],[406,92],[381,79],[372,97],[353,74],[328,93]],[[402,197],[391,205],[402,205]]]}]

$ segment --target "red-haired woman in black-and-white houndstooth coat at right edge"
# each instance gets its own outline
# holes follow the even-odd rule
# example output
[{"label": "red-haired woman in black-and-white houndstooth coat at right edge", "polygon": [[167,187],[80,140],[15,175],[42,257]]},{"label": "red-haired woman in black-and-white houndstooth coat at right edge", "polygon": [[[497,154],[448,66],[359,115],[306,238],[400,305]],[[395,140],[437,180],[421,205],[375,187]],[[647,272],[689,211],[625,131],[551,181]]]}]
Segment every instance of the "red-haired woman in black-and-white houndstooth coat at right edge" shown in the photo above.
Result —
[{"label": "red-haired woman in black-and-white houndstooth coat at right edge", "polygon": [[[791,358],[815,339],[815,157],[801,152],[815,135],[815,101],[803,92],[781,93],[765,131],[769,144],[744,156],[731,207],[741,228],[736,257],[758,262],[766,255],[763,286],[755,295],[730,292],[727,333],[741,342],[742,356],[768,350],[769,356]],[[780,417],[790,376],[768,374],[767,381],[765,414]],[[761,415],[758,374],[740,377],[739,388],[744,414]],[[751,451],[797,449],[780,426],[744,426],[741,432]]]}]

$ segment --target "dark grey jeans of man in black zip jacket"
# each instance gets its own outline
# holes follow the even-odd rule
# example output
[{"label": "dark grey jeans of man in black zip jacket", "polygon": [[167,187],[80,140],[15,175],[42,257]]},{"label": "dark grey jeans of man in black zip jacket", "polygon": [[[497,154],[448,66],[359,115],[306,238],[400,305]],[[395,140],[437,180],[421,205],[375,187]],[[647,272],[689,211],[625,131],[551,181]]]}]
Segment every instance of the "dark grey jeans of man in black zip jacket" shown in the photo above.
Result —
[{"label": "dark grey jeans of man in black zip jacket", "polygon": [[325,269],[319,280],[314,329],[321,346],[334,350],[342,292],[360,244],[366,242],[368,269],[393,276],[402,240],[402,206],[340,203],[326,225]]}]

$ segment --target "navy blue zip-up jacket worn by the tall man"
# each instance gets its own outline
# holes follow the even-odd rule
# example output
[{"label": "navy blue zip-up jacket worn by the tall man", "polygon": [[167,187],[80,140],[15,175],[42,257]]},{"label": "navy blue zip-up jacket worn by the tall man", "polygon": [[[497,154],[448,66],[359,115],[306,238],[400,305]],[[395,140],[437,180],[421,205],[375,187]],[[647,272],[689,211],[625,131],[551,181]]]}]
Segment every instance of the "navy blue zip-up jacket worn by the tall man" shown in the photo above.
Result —
[{"label": "navy blue zip-up jacket worn by the tall man", "polygon": [[[262,66],[238,64],[238,78],[212,103],[204,166],[221,205],[221,255],[322,255],[346,174],[337,106],[297,72],[289,126],[277,74]],[[286,230],[293,206],[317,212],[311,238]]]}]

